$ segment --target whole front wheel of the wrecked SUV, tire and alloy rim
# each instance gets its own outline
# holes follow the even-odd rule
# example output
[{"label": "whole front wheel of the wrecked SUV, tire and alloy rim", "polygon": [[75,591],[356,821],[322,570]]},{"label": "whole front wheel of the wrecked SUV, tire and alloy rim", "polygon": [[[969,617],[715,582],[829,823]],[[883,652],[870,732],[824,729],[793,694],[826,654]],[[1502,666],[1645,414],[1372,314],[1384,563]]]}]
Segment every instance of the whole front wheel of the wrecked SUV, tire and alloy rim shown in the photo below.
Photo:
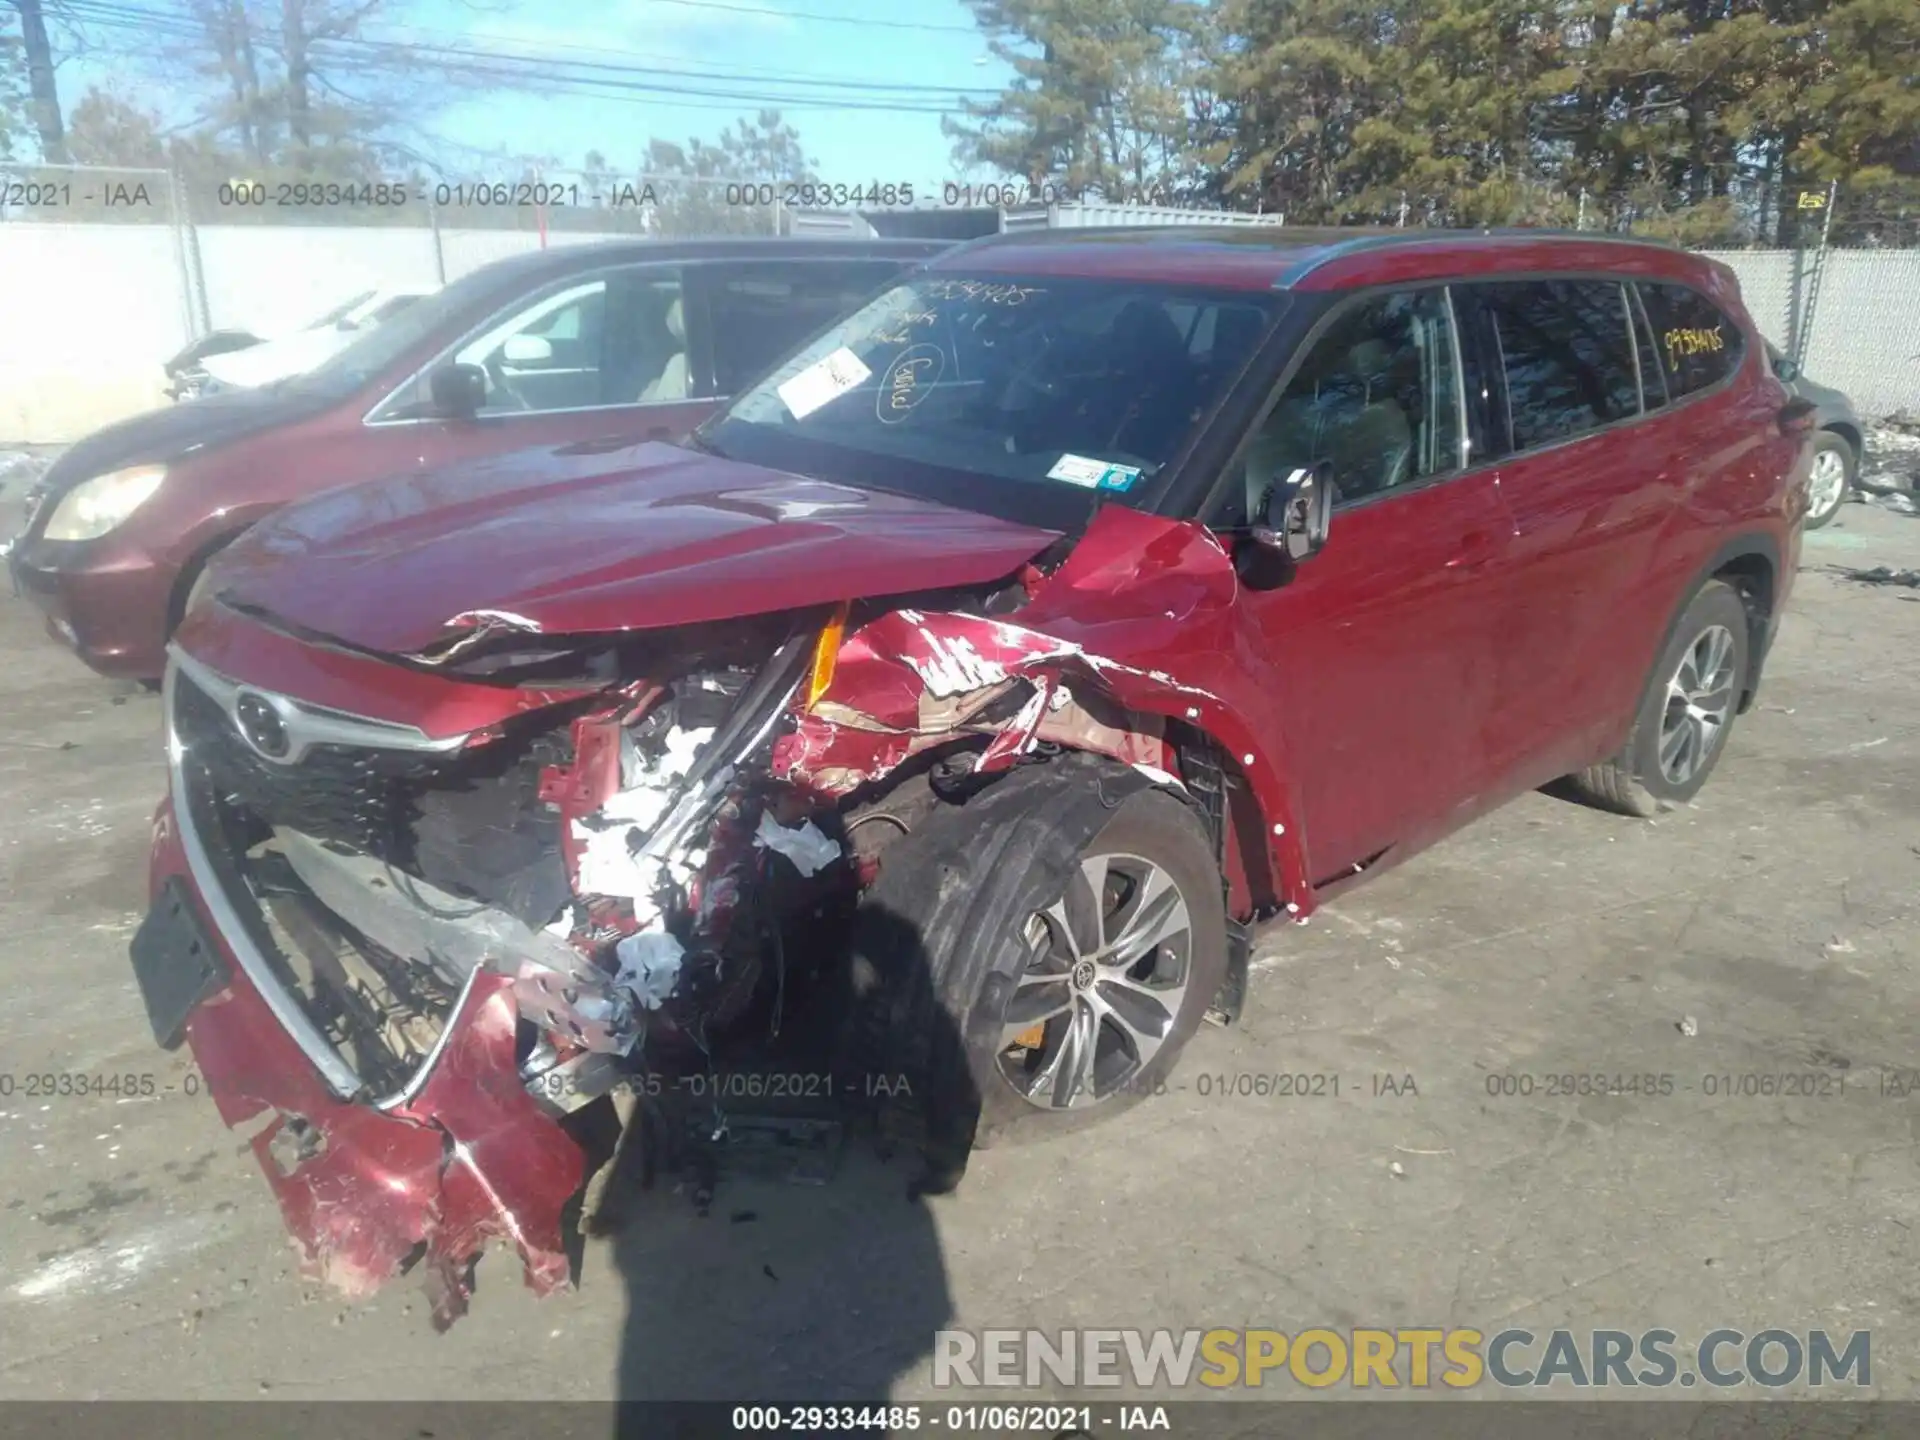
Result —
[{"label": "whole front wheel of the wrecked SUV, tire and alloy rim", "polygon": [[1190,804],[1062,756],[891,847],[852,948],[891,996],[877,1054],[924,1075],[929,1160],[958,1179],[966,1150],[1162,1092],[1227,973],[1227,910]]}]

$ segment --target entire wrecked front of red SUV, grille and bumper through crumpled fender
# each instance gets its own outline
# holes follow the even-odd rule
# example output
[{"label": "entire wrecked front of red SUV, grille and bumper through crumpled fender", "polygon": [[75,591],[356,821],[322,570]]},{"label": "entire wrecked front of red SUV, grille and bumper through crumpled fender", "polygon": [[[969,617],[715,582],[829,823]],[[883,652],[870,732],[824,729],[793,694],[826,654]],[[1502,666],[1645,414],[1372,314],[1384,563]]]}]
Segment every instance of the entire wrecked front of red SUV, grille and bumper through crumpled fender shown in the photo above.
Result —
[{"label": "entire wrecked front of red SUV, grille and bumper through crumpled fender", "polygon": [[[1156,620],[1231,597],[1204,532],[1112,524],[1121,549],[1150,524],[1198,557],[1162,563],[1185,612]],[[891,847],[1016,764],[1087,751],[1190,789],[1244,889],[1221,768],[1192,745],[1213,695],[1043,630],[1033,601],[1058,618],[1073,559],[651,632],[468,614],[401,660],[202,607],[167,674],[134,968],[169,1043],[146,975],[163,912],[230,958],[177,1029],[227,1123],[261,1125],[309,1271],[363,1292],[424,1267],[442,1325],[490,1242],[564,1284],[584,1112],[843,1004],[837,925]],[[363,714],[378,695],[419,724]]]}]

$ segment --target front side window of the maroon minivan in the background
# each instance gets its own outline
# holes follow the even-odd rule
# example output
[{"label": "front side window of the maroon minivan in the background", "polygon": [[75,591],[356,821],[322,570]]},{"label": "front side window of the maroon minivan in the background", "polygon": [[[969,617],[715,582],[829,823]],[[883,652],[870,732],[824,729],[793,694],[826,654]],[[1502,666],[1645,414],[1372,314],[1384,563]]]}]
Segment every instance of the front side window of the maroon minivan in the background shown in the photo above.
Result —
[{"label": "front side window of the maroon minivan in the background", "polygon": [[655,267],[576,276],[428,365],[380,419],[428,415],[428,376],[447,361],[486,374],[480,415],[687,399],[680,278]]}]

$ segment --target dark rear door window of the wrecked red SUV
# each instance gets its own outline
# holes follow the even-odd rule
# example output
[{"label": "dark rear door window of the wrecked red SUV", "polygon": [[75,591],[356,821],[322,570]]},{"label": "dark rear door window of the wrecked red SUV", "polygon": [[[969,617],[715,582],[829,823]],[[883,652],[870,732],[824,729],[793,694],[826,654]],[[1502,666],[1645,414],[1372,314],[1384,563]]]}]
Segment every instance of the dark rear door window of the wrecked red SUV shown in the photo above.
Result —
[{"label": "dark rear door window of the wrecked red SUV", "polygon": [[1475,290],[1500,344],[1515,451],[1640,413],[1626,298],[1617,282],[1521,280]]}]

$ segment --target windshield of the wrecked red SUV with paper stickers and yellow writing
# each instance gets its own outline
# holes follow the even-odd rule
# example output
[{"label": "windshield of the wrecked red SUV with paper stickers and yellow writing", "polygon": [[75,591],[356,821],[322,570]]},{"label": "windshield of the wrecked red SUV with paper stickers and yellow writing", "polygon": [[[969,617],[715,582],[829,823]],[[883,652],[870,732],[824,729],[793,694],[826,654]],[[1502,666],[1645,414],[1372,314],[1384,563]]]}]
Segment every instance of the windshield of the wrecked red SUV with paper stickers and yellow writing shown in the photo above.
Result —
[{"label": "windshield of the wrecked red SUV with paper stickers and yellow writing", "polygon": [[1135,280],[918,275],[699,438],[722,455],[1058,524],[1089,509],[1089,492],[1139,503],[1281,305]]}]

